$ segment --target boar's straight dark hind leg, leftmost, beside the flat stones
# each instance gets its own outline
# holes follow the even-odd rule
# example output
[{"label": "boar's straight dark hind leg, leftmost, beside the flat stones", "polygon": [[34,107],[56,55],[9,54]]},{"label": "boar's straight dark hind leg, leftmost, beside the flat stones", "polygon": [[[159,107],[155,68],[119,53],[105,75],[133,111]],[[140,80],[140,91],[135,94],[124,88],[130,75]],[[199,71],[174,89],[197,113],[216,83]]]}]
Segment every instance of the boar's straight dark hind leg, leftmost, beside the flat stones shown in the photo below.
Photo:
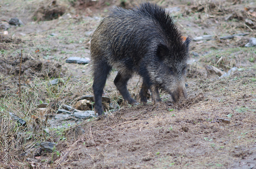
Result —
[{"label": "boar's straight dark hind leg, leftmost, beside the flat stones", "polygon": [[111,66],[106,64],[105,62],[103,63],[97,63],[96,66],[94,66],[94,80],[93,80],[93,93],[94,93],[94,107],[96,113],[98,115],[103,114],[103,109],[102,109],[102,94],[103,94],[103,88],[106,83],[106,78],[108,77]]}]

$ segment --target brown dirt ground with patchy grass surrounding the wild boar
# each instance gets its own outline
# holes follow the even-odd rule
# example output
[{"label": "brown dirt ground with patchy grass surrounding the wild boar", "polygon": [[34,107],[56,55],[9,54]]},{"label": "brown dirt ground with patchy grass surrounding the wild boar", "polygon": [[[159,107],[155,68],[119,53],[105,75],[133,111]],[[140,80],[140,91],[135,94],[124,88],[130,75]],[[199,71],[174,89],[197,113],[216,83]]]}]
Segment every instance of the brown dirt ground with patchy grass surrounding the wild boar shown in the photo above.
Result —
[{"label": "brown dirt ground with patchy grass surrounding the wild boar", "polygon": [[[146,105],[131,106],[115,88],[113,71],[104,88],[107,115],[58,119],[61,106],[93,94],[91,64],[66,59],[90,58],[92,33],[108,9],[139,1],[3,0],[0,168],[256,168],[256,47],[245,47],[256,37],[256,3],[152,2],[171,12],[183,36],[212,35],[191,41],[188,98],[174,103],[161,91],[162,103],[153,105],[149,95]],[[24,25],[5,29],[14,17]],[[141,83],[138,76],[129,81],[137,100]],[[42,150],[44,141],[55,148]]]}]

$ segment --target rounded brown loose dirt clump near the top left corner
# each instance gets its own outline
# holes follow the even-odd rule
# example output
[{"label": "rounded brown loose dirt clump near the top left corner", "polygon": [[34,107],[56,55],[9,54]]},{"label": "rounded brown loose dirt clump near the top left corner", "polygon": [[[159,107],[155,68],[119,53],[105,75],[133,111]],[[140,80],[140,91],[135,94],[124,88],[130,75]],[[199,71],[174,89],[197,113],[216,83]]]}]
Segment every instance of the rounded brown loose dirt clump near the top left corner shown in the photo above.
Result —
[{"label": "rounded brown loose dirt clump near the top left corner", "polygon": [[40,5],[37,11],[33,15],[33,19],[40,20],[53,20],[66,12],[66,7],[59,5],[57,1],[47,1]]}]

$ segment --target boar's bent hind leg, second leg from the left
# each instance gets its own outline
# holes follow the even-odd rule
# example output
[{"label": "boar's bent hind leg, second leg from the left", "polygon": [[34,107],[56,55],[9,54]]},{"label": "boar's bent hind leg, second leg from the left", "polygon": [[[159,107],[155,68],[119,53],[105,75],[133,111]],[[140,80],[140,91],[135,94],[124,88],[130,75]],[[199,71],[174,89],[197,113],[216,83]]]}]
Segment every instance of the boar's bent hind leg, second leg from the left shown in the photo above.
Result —
[{"label": "boar's bent hind leg, second leg from the left", "polygon": [[114,83],[115,83],[117,89],[122,94],[123,99],[128,101],[129,104],[135,104],[135,103],[137,103],[137,101],[132,98],[132,96],[130,95],[130,93],[127,89],[127,82],[131,77],[132,77],[132,74],[129,74],[129,73],[123,74],[119,71],[114,80]]}]

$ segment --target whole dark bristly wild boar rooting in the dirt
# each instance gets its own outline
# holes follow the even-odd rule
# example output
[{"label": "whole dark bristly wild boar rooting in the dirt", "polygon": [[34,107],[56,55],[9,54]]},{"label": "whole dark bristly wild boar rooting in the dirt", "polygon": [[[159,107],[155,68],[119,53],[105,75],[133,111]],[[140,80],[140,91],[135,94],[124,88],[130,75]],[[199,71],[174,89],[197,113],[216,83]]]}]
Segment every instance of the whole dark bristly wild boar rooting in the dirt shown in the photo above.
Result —
[{"label": "whole dark bristly wild boar rooting in the dirt", "polygon": [[93,34],[93,91],[95,111],[102,115],[101,97],[112,68],[118,70],[114,80],[129,104],[135,101],[127,90],[134,73],[143,78],[141,102],[147,102],[151,90],[153,103],[160,102],[158,89],[170,93],[174,101],[186,98],[184,89],[190,39],[182,36],[172,17],[163,8],[142,3],[131,10],[113,8]]}]

